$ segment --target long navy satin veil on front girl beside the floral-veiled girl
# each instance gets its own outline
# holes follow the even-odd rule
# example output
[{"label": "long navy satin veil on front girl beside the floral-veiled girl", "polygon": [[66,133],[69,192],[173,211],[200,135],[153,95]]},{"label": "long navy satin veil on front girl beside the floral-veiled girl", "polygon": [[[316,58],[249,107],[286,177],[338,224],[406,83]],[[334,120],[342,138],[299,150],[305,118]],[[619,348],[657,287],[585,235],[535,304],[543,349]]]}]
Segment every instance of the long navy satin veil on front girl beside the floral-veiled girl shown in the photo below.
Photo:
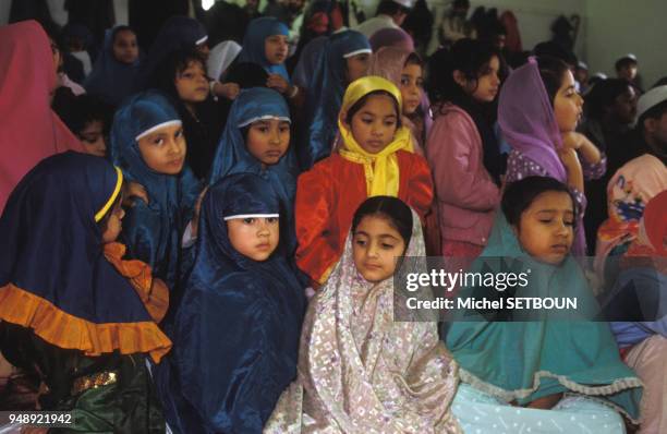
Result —
[{"label": "long navy satin veil on front girl beside the floral-veiled girl", "polygon": [[260,433],[296,376],[305,309],[296,276],[280,244],[264,262],[237,252],[223,220],[278,212],[271,184],[252,173],[223,178],[204,197],[173,351],[154,371],[177,433]]}]

